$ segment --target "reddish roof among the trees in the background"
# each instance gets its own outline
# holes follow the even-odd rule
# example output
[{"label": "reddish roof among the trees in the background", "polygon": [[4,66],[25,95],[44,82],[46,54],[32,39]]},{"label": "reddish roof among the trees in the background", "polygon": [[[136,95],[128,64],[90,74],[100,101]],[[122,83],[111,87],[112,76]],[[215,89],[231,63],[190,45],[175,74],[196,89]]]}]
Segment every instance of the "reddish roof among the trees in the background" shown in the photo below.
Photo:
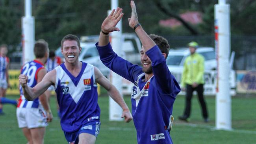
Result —
[{"label": "reddish roof among the trees in the background", "polygon": [[[180,17],[184,19],[186,22],[189,22],[191,24],[199,24],[202,22],[202,13],[198,11],[189,11],[186,13],[180,14]],[[182,25],[182,23],[175,18],[170,18],[167,20],[160,20],[159,24],[161,26],[171,27],[174,28],[176,26]]]}]

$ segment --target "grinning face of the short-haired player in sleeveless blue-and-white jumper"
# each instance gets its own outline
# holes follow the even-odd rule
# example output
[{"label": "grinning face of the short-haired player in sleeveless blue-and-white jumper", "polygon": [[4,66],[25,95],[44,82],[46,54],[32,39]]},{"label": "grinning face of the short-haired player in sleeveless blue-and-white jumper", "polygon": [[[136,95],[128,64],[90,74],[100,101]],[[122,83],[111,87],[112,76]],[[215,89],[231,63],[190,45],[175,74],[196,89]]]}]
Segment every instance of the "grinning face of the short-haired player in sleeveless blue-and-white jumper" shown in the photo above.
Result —
[{"label": "grinning face of the short-haired player in sleeveless blue-and-white jumper", "polygon": [[78,46],[75,40],[66,40],[61,47],[61,53],[67,63],[76,63],[81,50],[82,48]]}]

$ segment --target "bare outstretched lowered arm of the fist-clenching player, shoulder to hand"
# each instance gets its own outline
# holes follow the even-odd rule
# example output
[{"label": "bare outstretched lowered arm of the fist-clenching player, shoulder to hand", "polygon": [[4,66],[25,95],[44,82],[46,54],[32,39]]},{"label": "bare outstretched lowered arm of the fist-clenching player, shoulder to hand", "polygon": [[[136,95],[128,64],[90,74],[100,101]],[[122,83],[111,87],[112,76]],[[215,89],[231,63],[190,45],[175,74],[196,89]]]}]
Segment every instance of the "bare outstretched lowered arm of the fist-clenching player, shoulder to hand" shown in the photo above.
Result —
[{"label": "bare outstretched lowered arm of the fist-clenching player, shoulder to hand", "polygon": [[94,67],[95,72],[95,80],[97,83],[99,83],[102,87],[104,87],[108,94],[115,102],[117,102],[122,107],[122,118],[124,117],[125,122],[130,122],[132,120],[132,114],[130,113],[130,110],[126,103],[124,102],[124,99],[122,98],[119,91],[115,88],[114,85],[112,85],[109,80],[103,76],[103,74],[98,70],[98,68]]}]

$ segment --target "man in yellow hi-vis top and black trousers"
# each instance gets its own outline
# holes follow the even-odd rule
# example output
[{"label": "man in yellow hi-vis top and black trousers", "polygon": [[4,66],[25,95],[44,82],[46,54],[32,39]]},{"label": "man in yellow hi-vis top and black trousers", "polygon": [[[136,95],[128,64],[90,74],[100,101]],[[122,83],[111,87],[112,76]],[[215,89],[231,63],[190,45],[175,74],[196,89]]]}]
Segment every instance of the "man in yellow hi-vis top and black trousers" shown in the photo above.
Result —
[{"label": "man in yellow hi-vis top and black trousers", "polygon": [[204,122],[208,122],[208,112],[203,95],[204,57],[195,52],[196,48],[198,48],[197,42],[189,42],[188,46],[191,55],[189,55],[185,60],[181,82],[182,90],[186,91],[186,107],[184,109],[184,114],[178,118],[188,122],[188,118],[191,113],[191,99],[193,96],[193,91],[196,90],[198,100],[202,107]]}]

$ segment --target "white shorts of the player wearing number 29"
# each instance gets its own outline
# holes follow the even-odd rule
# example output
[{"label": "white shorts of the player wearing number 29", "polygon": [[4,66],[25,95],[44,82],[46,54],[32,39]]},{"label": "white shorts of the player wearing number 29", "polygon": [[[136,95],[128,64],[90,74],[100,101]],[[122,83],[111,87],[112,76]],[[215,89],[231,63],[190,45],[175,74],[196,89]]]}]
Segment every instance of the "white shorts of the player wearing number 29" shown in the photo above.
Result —
[{"label": "white shorts of the player wearing number 29", "polygon": [[32,129],[48,126],[44,109],[18,107],[16,114],[19,128],[28,127],[28,129]]}]

